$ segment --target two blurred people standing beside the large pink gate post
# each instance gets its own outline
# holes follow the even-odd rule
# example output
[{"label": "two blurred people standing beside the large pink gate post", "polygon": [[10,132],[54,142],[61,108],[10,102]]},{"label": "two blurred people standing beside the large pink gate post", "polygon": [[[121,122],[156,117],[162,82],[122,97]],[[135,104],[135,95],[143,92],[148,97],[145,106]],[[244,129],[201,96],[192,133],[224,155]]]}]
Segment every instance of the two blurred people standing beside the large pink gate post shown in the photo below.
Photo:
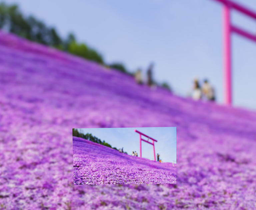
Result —
[{"label": "two blurred people standing beside the large pink gate post", "polygon": [[205,99],[208,101],[215,101],[215,91],[207,79],[204,80],[202,87],[199,81],[195,79],[191,95],[194,100]]}]

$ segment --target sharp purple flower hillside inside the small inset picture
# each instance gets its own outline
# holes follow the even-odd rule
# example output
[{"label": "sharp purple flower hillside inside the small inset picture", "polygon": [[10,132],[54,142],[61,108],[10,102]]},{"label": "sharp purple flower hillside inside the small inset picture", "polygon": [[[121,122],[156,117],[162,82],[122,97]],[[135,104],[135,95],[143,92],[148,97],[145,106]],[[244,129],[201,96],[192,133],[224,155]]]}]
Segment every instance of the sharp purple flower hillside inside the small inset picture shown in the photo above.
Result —
[{"label": "sharp purple flower hillside inside the small inset picture", "polygon": [[176,167],[73,136],[74,184],[176,184]]}]

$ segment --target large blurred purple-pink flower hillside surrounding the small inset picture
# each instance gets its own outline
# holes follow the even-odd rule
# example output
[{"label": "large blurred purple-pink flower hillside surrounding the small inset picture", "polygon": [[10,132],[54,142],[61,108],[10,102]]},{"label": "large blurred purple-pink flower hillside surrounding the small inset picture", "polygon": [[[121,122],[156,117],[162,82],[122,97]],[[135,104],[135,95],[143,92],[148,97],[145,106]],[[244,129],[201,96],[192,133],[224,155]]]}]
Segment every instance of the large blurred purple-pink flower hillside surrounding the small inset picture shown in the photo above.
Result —
[{"label": "large blurred purple-pink flower hillside surrounding the small inset picture", "polygon": [[[74,185],[72,128],[177,126],[177,184]],[[0,209],[256,209],[256,113],[0,32]]]}]

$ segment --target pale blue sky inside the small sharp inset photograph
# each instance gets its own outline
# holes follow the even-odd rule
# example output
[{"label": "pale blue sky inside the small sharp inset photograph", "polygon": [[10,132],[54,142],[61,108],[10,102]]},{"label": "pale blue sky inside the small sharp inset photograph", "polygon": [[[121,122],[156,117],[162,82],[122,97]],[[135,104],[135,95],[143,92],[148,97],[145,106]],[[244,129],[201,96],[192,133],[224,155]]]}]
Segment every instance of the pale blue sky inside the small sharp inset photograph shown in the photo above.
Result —
[{"label": "pale blue sky inside the small sharp inset photograph", "polygon": [[[79,128],[78,130],[84,134],[91,133],[117,149],[123,147],[130,155],[132,151],[136,151],[139,156],[139,133],[134,129],[157,140],[155,153],[160,154],[163,162],[176,163],[176,127]],[[146,137],[144,139],[147,140]],[[142,157],[154,160],[153,145],[142,141],[141,148]]]}]

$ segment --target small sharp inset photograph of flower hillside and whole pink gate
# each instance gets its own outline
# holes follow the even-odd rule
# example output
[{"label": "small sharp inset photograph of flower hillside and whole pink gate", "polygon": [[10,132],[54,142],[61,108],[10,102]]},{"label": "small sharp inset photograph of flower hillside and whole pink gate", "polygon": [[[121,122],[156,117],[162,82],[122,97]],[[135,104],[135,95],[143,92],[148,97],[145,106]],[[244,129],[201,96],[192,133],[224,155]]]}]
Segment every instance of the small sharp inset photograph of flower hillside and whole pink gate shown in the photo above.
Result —
[{"label": "small sharp inset photograph of flower hillside and whole pink gate", "polygon": [[176,184],[176,127],[73,128],[74,184]]}]

